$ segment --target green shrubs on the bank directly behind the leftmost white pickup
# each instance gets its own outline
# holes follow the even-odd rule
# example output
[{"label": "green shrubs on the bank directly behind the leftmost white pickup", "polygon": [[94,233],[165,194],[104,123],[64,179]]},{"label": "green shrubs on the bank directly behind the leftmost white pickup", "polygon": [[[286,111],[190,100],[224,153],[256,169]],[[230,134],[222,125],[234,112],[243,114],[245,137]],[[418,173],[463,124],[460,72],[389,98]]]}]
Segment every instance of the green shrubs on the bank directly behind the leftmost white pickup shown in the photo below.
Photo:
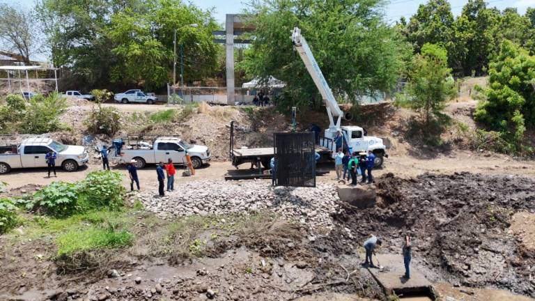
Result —
[{"label": "green shrubs on the bank directly behind the leftmost white pickup", "polygon": [[8,95],[0,107],[0,132],[3,134],[42,134],[63,130],[59,116],[66,107],[57,93],[47,97],[37,95],[26,104],[20,95]]}]

